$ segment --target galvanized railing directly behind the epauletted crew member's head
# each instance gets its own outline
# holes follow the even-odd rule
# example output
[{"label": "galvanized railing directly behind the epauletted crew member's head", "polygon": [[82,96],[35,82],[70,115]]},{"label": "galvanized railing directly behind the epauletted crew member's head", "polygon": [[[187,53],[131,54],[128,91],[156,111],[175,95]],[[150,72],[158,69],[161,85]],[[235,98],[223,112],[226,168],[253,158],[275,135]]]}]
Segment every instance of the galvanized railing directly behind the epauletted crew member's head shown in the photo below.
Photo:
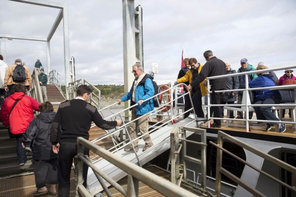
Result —
[{"label": "galvanized railing directly behind the epauletted crew member's head", "polygon": [[69,99],[76,98],[76,90],[80,85],[88,85],[92,87],[93,91],[90,95],[89,102],[100,109],[101,91],[85,79],[78,79],[68,84],[67,90],[69,93]]}]

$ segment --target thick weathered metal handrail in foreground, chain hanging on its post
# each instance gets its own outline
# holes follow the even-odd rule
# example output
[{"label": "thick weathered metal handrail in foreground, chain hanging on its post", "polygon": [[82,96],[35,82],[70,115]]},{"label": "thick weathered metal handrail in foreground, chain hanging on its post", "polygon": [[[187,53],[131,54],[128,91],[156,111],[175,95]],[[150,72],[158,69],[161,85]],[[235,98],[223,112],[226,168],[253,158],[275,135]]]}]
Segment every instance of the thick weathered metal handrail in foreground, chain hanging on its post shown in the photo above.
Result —
[{"label": "thick weathered metal handrail in foreground, chain hanging on its post", "polygon": [[[82,170],[83,170],[83,163],[81,161],[83,160],[83,149],[84,147],[88,148],[90,151],[93,151],[97,155],[100,155],[113,165],[119,167],[121,170],[125,171],[128,174],[128,187],[127,187],[127,193],[123,192],[122,194],[125,196],[137,196],[138,195],[138,181],[142,181],[146,185],[152,187],[156,191],[162,193],[165,196],[176,196],[176,197],[189,197],[189,196],[197,196],[195,194],[192,194],[191,192],[181,188],[177,187],[175,184],[165,180],[161,179],[159,176],[154,175],[153,173],[143,169],[142,167],[139,167],[135,165],[134,163],[131,163],[129,161],[126,161],[124,159],[121,159],[121,157],[114,155],[110,153],[109,151],[105,150],[102,147],[99,147],[88,140],[78,137],[78,153],[77,153],[77,163],[80,163],[80,165],[77,165],[77,185],[78,185],[78,191],[82,190],[81,187],[84,187],[82,184]],[[98,173],[99,175],[103,176],[103,174],[100,174],[101,171],[97,171],[97,168],[92,163],[87,163],[89,167],[92,168],[93,171]],[[112,183],[110,183],[112,184]]]}]

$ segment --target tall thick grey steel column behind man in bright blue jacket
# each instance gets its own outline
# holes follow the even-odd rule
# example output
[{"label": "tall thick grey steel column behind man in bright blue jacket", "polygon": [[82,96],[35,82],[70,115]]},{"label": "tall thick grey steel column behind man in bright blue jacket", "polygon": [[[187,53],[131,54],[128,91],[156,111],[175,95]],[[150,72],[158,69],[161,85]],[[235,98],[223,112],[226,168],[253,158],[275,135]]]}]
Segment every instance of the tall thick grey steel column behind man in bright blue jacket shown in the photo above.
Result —
[{"label": "tall thick grey steel column behind man in bright blue jacket", "polygon": [[[122,26],[124,93],[126,94],[130,91],[134,80],[132,66],[136,63],[134,0],[122,0]],[[128,107],[130,102],[125,102],[125,108]],[[131,112],[125,111],[125,117],[125,120],[130,121]]]}]

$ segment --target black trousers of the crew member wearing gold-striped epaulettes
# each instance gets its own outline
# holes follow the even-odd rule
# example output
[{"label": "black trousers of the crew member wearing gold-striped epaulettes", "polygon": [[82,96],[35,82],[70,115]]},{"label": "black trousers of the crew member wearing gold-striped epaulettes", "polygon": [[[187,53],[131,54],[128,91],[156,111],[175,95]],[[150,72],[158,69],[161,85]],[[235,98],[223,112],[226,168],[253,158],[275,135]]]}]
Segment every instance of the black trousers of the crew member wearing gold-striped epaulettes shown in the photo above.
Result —
[{"label": "black trousers of the crew member wearing gold-striped epaulettes", "polygon": [[[62,142],[59,150],[59,197],[67,197],[70,195],[70,174],[72,167],[72,160],[77,155],[77,142]],[[89,150],[84,148],[84,155],[89,155]],[[83,164],[83,185],[86,187],[88,166]]]}]

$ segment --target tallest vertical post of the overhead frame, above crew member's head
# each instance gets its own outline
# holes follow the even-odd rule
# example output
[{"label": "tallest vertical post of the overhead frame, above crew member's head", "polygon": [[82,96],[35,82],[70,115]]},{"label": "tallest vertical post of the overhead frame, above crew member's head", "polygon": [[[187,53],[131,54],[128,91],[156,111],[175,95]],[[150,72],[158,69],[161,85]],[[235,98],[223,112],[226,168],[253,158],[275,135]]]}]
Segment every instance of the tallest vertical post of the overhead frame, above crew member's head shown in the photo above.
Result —
[{"label": "tallest vertical post of the overhead frame, above crew member's head", "polygon": [[63,29],[64,29],[64,61],[65,61],[65,85],[66,99],[69,99],[68,86],[71,81],[70,77],[70,50],[69,50],[69,20],[68,20],[68,5],[63,8]]}]

